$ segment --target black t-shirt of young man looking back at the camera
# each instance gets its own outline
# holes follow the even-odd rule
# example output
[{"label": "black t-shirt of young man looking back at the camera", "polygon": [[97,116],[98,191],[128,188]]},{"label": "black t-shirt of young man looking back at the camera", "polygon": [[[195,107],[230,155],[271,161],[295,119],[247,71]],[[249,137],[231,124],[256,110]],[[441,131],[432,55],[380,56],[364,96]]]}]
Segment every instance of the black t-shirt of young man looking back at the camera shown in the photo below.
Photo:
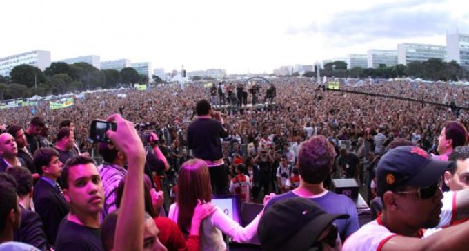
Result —
[{"label": "black t-shirt of young man looking back at the camera", "polygon": [[104,250],[99,228],[81,226],[69,221],[66,217],[60,223],[58,232],[55,241],[55,250],[57,251]]}]

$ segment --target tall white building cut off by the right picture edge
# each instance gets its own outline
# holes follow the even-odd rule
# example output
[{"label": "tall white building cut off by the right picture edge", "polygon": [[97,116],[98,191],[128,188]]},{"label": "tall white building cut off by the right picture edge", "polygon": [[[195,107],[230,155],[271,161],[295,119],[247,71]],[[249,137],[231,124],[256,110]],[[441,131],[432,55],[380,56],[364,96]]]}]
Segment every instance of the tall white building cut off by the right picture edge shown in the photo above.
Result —
[{"label": "tall white building cut off by the right picture edge", "polygon": [[469,34],[446,35],[448,61],[456,61],[461,66],[469,66]]}]

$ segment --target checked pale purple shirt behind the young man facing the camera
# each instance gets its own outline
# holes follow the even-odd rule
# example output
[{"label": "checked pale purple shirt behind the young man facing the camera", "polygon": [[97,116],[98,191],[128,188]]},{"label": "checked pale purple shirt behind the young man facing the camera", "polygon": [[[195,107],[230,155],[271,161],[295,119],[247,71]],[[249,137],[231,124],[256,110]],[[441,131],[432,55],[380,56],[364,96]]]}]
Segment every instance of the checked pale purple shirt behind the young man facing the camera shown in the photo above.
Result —
[{"label": "checked pale purple shirt behind the young man facing the camera", "polygon": [[102,223],[106,215],[117,209],[117,186],[126,176],[127,170],[117,164],[103,162],[98,166],[98,172],[104,188],[104,205],[99,213],[99,220]]}]

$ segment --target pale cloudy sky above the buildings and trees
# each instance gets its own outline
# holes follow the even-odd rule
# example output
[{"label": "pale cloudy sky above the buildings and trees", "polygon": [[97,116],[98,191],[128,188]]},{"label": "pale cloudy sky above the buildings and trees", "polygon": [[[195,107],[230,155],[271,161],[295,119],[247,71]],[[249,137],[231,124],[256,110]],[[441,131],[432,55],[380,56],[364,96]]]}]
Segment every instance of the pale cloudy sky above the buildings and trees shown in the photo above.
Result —
[{"label": "pale cloudy sky above the buildings and trees", "polygon": [[52,61],[98,55],[166,72],[272,73],[469,34],[461,0],[15,0],[1,9],[0,58],[49,50]]}]

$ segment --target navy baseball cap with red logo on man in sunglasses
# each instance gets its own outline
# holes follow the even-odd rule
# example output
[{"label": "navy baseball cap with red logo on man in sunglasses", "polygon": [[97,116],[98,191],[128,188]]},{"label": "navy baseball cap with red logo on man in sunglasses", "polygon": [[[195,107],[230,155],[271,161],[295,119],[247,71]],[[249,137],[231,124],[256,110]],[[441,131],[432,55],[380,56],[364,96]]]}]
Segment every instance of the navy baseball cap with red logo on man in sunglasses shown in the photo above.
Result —
[{"label": "navy baseball cap with red logo on man in sunglasses", "polygon": [[388,151],[376,168],[378,196],[403,186],[426,187],[438,182],[451,162],[433,160],[417,146],[399,146]]}]

